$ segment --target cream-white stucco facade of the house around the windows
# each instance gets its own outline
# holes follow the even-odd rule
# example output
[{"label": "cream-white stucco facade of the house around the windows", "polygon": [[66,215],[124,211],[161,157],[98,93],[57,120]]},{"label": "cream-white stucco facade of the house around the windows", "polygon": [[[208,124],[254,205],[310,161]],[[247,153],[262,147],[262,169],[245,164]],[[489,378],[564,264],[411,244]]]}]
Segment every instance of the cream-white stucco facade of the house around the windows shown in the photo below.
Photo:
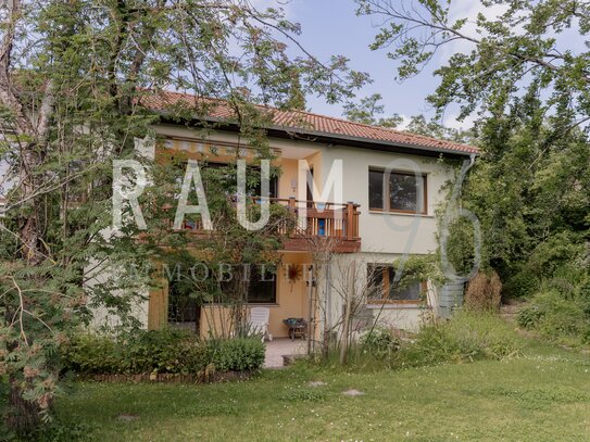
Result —
[{"label": "cream-white stucco facade of the house around the windows", "polygon": [[[186,126],[161,124],[153,127],[156,138],[160,139],[163,149],[173,146],[174,149],[187,152],[205,152],[204,144],[219,143],[222,153],[231,155],[231,147],[246,148],[246,140],[236,132],[191,130]],[[174,140],[174,141],[172,141]],[[277,162],[281,168],[278,179],[278,198],[301,199],[301,189],[298,181],[298,162],[305,160],[310,168],[313,168],[313,179],[319,192],[326,187],[332,165],[341,161],[342,165],[342,192],[341,201],[337,193],[329,192],[325,201],[332,203],[354,202],[359,204],[361,212],[359,217],[359,237],[361,248],[355,253],[342,253],[335,256],[330,266],[330,283],[322,283],[323,296],[326,296],[329,319],[336,324],[343,308],[342,296],[339,295],[337,286],[341,282],[342,268],[350,268],[350,263],[355,264],[355,287],[362,291],[367,285],[367,265],[391,265],[396,260],[411,254],[432,253],[437,249],[437,207],[443,202],[444,185],[453,177],[454,171],[437,159],[436,155],[424,155],[418,150],[415,153],[399,153],[394,151],[379,150],[375,146],[361,147],[341,146],[306,141],[303,139],[269,138],[269,146],[277,155]],[[158,149],[151,142],[137,143],[138,155],[145,159],[155,159]],[[214,162],[212,155],[203,155]],[[426,176],[426,210],[420,214],[402,214],[391,212],[378,212],[369,210],[369,169],[390,168],[396,172],[416,173]],[[303,193],[304,194],[304,193]],[[315,201],[318,201],[314,198]],[[296,260],[297,262],[301,260]],[[311,263],[310,263],[311,264]],[[340,279],[339,279],[340,278]],[[334,282],[336,280],[336,282]],[[292,288],[290,288],[292,291]],[[303,290],[303,289],[302,289]],[[302,302],[309,296],[301,294]],[[146,301],[136,306],[136,317],[148,327],[150,293],[146,290]],[[278,299],[281,296],[279,295]],[[427,287],[427,303],[365,303],[365,312],[371,312],[373,318],[379,323],[400,329],[415,330],[420,324],[425,310],[436,308],[437,290],[431,285]],[[299,301],[298,301],[299,302]],[[293,304],[294,305],[294,304]],[[274,306],[280,307],[279,304]],[[306,306],[301,306],[301,312],[306,312]],[[289,315],[288,312],[285,315]],[[112,318],[106,312],[96,312],[95,325],[99,326]]]}]

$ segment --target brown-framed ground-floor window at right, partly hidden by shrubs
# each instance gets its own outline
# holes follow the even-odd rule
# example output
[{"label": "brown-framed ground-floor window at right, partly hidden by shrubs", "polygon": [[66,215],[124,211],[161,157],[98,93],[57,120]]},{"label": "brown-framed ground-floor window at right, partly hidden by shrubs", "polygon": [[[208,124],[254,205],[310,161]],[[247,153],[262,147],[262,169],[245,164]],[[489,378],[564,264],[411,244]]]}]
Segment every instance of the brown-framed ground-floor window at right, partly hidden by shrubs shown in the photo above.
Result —
[{"label": "brown-framed ground-floor window at right, partly hidden by shrubs", "polygon": [[416,281],[400,288],[396,282],[396,269],[390,265],[368,264],[367,277],[371,302],[417,303],[424,283]]}]

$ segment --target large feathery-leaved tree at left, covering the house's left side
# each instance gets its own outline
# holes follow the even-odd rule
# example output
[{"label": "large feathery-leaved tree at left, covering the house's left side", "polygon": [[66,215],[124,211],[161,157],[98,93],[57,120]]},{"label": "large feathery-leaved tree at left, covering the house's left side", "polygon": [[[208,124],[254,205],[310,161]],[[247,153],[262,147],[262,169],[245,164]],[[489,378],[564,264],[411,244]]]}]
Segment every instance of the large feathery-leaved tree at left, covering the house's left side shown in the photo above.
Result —
[{"label": "large feathery-leaved tree at left, covering the house's left side", "polygon": [[[366,76],[341,56],[319,62],[281,10],[246,0],[9,0],[0,15],[0,164],[14,184],[0,248],[0,371],[10,379],[8,424],[24,434],[49,418],[60,344],[88,321],[89,307],[133,326],[149,278],[129,268],[158,257],[161,240],[183,244],[172,232],[138,241],[133,224],[111,235],[112,162],[136,159],[136,140],[161,118],[142,101],[161,88],[192,92],[191,102],[162,111],[212,129],[204,116],[214,101],[205,98],[223,99],[242,139],[269,157],[271,115],[253,103],[289,102],[294,75],[329,102]],[[299,54],[289,58],[288,46]],[[160,207],[174,180],[148,187],[146,217],[164,226]]]}]

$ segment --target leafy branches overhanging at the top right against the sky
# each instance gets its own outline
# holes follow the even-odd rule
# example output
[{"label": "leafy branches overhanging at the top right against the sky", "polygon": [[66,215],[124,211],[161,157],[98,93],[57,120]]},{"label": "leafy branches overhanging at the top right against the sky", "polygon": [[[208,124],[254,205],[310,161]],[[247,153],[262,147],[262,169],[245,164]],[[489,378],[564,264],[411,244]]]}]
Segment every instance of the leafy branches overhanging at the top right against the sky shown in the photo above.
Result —
[{"label": "leafy branches overhanging at the top right against the sky", "polygon": [[452,54],[435,71],[440,85],[428,101],[439,111],[455,102],[462,105],[460,117],[476,111],[495,116],[528,90],[544,91],[541,105],[554,111],[557,132],[589,121],[589,50],[580,46],[576,51],[560,37],[568,30],[580,37],[588,31],[590,4],[501,0],[493,2],[494,11],[502,10],[494,15],[484,8],[491,3],[481,1],[484,12],[477,17],[453,18],[451,2],[356,2],[359,14],[384,20],[372,49],[392,48],[388,56],[400,61],[400,79],[419,73],[452,42],[468,46],[466,53]]}]

